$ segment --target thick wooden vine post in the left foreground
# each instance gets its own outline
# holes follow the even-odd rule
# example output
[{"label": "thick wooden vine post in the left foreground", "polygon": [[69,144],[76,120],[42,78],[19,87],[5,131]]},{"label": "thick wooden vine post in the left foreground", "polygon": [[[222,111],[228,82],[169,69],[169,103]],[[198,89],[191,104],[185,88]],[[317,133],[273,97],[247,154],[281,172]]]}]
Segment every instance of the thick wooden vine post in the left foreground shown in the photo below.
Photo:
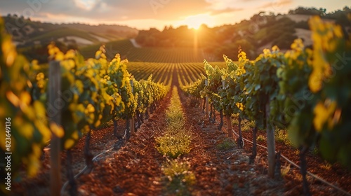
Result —
[{"label": "thick wooden vine post in the left foreground", "polygon": [[[60,62],[51,61],[49,63],[48,76],[48,102],[53,106],[53,111],[48,115],[50,124],[55,123],[61,126],[62,99],[59,92],[61,90],[61,68]],[[61,160],[60,160],[60,138],[51,130],[51,150],[50,150],[50,188],[51,195],[60,195],[61,189]]]}]

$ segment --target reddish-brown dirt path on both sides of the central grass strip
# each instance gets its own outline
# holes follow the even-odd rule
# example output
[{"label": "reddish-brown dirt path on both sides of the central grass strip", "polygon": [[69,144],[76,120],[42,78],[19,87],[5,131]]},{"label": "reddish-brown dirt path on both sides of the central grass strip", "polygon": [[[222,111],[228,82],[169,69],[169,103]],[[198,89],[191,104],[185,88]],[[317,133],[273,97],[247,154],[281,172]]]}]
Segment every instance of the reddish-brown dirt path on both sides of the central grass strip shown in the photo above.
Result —
[{"label": "reddish-brown dirt path on both sides of the central grass strip", "polygon": [[[165,158],[156,150],[154,138],[166,127],[163,104],[135,137],[120,151],[100,160],[91,174],[79,179],[81,195],[164,195],[161,164]],[[192,150],[183,159],[196,176],[192,195],[274,195],[282,192],[282,181],[267,179],[254,165],[248,165],[244,150],[218,150],[225,134],[215,125],[198,125],[204,120],[198,108],[183,104],[185,127],[192,135]],[[267,183],[268,182],[268,183]]]}]

